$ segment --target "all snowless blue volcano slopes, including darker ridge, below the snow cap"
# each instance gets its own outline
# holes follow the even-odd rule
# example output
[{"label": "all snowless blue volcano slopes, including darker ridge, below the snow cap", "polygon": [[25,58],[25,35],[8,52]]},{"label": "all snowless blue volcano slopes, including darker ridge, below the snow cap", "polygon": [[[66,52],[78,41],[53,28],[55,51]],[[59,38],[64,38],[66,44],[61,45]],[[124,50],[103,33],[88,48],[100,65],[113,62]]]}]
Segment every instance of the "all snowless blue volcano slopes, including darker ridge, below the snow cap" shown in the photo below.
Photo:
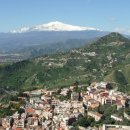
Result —
[{"label": "all snowless blue volcano slopes, including darker ridge, below the snow cap", "polygon": [[82,47],[85,43],[106,34],[108,32],[97,30],[0,33],[0,55],[9,57],[8,59],[3,56],[3,62],[20,61]]}]

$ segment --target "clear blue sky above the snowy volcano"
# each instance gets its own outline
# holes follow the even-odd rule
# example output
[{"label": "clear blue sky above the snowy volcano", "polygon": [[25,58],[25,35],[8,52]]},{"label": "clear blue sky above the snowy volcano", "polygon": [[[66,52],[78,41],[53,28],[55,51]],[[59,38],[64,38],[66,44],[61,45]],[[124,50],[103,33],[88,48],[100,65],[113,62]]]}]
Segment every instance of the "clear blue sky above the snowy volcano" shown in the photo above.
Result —
[{"label": "clear blue sky above the snowy volcano", "polygon": [[52,21],[130,34],[130,0],[0,0],[0,32]]}]

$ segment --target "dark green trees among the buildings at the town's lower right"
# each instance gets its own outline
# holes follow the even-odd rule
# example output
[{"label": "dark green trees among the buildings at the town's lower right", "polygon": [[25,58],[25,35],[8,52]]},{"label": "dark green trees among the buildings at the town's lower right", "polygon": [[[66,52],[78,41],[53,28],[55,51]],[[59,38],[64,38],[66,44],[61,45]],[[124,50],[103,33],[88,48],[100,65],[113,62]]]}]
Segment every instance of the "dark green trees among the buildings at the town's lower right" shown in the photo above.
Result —
[{"label": "dark green trees among the buildings at the town's lower right", "polygon": [[[76,122],[73,123],[74,129],[78,130],[78,126],[88,127],[88,126],[101,126],[102,124],[113,124],[113,125],[130,125],[130,121],[127,119],[123,119],[123,122],[115,121],[111,118],[112,114],[117,114],[118,116],[122,116],[124,113],[124,109],[116,109],[116,106],[111,105],[101,105],[96,108],[94,111],[97,111],[100,114],[103,114],[103,117],[99,121],[95,121],[94,118],[90,118],[87,116],[81,116],[78,118]],[[128,113],[130,110],[128,110]]]}]

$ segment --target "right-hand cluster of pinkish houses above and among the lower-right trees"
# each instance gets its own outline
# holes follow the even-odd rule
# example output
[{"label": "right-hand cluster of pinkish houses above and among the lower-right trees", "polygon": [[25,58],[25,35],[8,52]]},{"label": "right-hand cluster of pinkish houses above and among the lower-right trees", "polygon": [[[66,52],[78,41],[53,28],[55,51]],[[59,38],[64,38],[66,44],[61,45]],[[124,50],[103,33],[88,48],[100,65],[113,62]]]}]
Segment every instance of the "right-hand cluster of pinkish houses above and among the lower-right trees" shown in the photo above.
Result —
[{"label": "right-hand cluster of pinkish houses above and among the lower-right trees", "polygon": [[[87,92],[83,94],[83,103],[87,108],[95,109],[99,105],[116,105],[117,110],[120,108],[130,108],[130,97],[122,92],[111,89],[111,86],[106,82],[92,83],[87,87]],[[103,115],[90,111],[88,115],[99,121]],[[111,115],[116,121],[123,121],[122,117],[114,114]],[[128,119],[128,118],[127,118]]]}]

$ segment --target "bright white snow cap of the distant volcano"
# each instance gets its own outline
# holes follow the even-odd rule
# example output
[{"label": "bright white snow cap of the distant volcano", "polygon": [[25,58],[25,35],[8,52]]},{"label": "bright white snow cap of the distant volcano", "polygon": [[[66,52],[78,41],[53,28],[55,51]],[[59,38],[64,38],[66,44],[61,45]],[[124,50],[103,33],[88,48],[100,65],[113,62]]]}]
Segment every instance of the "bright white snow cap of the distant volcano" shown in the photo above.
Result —
[{"label": "bright white snow cap of the distant volcano", "polygon": [[24,33],[24,32],[31,32],[31,31],[87,31],[87,30],[96,30],[99,29],[93,27],[81,27],[81,26],[74,26],[69,24],[64,24],[62,22],[50,22],[47,24],[36,25],[34,27],[24,27],[19,30],[13,30],[12,33]]}]

